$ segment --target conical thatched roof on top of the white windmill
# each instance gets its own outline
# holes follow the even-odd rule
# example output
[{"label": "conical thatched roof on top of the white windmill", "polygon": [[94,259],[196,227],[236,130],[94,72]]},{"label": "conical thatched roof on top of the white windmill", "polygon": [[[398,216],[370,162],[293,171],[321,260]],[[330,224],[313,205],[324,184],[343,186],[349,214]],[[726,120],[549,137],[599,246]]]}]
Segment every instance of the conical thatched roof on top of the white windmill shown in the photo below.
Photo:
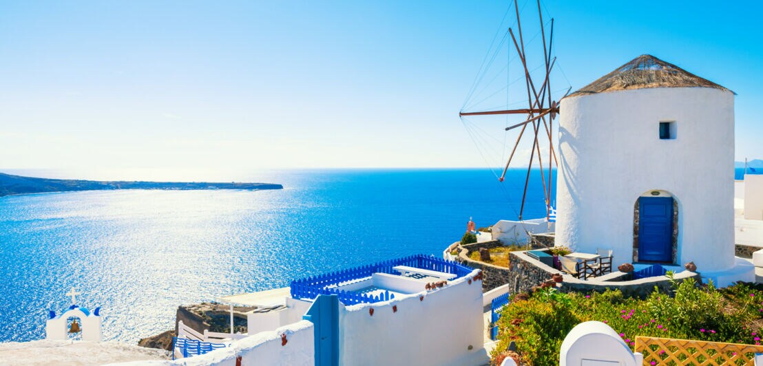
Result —
[{"label": "conical thatched roof on top of the white windmill", "polygon": [[641,88],[716,88],[729,90],[672,63],[666,63],[655,56],[641,55],[568,96]]}]

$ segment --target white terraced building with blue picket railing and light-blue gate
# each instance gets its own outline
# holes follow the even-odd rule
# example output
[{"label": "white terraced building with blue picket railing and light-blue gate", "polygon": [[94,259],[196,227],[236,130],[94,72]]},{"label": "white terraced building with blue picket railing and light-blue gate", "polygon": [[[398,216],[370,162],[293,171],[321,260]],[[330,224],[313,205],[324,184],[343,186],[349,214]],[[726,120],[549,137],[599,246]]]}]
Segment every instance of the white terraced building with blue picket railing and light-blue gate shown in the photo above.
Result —
[{"label": "white terraced building with blue picket railing and light-blue gate", "polygon": [[285,304],[250,313],[248,335],[204,350],[209,332],[179,329],[175,355],[192,358],[134,365],[488,364],[481,281],[480,270],[427,255],[302,278],[221,299]]}]

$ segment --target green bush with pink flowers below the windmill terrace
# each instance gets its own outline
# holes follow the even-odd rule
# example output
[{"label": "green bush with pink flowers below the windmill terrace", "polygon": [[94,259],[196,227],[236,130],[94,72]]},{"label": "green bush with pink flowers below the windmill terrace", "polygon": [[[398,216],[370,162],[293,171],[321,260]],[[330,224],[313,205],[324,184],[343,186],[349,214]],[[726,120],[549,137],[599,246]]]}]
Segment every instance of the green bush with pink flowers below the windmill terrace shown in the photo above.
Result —
[{"label": "green bush with pink flowers below the windmill terrace", "polygon": [[620,291],[536,291],[529,299],[515,297],[504,307],[492,355],[506,351],[514,341],[527,364],[559,364],[559,348],[567,333],[589,320],[607,323],[631,348],[636,335],[759,344],[761,290],[751,284],[718,290],[713,284],[697,286],[687,279],[674,282],[669,294],[655,289],[645,300],[624,297]]}]

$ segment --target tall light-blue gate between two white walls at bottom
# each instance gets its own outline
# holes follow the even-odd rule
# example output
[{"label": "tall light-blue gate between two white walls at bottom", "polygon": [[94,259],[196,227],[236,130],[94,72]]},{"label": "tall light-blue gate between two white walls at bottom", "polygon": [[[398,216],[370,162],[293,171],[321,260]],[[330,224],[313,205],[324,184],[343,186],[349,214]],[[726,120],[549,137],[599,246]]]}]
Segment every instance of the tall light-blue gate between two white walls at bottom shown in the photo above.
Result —
[{"label": "tall light-blue gate between two white walls at bottom", "polygon": [[315,365],[339,364],[339,297],[318,295],[302,319],[314,324]]}]

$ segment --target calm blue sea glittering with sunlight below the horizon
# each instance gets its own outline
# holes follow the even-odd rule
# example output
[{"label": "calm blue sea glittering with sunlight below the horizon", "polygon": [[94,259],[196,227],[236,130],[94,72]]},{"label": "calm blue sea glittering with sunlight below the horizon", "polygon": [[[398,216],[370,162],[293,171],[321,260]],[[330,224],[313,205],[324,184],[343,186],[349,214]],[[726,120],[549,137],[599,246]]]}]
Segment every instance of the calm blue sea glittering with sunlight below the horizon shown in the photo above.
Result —
[{"label": "calm blue sea glittering with sunlight below the horizon", "polygon": [[[172,329],[183,303],[288,285],[414,253],[466,222],[515,219],[525,170],[318,170],[251,175],[278,191],[82,191],[0,197],[0,341],[44,338],[47,310],[100,306],[105,339]],[[230,180],[230,179],[224,179]],[[237,177],[237,181],[242,181]],[[546,214],[533,171],[525,218]]]}]

